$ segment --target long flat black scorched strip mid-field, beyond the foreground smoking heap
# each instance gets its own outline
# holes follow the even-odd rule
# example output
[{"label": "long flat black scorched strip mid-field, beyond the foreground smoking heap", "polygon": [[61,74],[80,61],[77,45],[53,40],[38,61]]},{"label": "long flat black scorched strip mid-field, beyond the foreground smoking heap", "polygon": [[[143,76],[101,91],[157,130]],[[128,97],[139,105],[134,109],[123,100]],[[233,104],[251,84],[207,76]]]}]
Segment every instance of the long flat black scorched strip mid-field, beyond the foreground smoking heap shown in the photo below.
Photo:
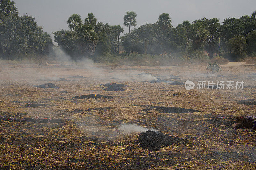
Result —
[{"label": "long flat black scorched strip mid-field, beyond the foreground smoking heap", "polygon": [[191,112],[202,112],[201,110],[194,110],[194,109],[186,109],[182,107],[164,107],[164,106],[150,106],[150,105],[133,105],[133,106],[140,106],[145,107],[145,109],[141,109],[138,111],[144,111],[146,113],[152,113],[153,109],[158,111],[159,113],[191,113]]}]

